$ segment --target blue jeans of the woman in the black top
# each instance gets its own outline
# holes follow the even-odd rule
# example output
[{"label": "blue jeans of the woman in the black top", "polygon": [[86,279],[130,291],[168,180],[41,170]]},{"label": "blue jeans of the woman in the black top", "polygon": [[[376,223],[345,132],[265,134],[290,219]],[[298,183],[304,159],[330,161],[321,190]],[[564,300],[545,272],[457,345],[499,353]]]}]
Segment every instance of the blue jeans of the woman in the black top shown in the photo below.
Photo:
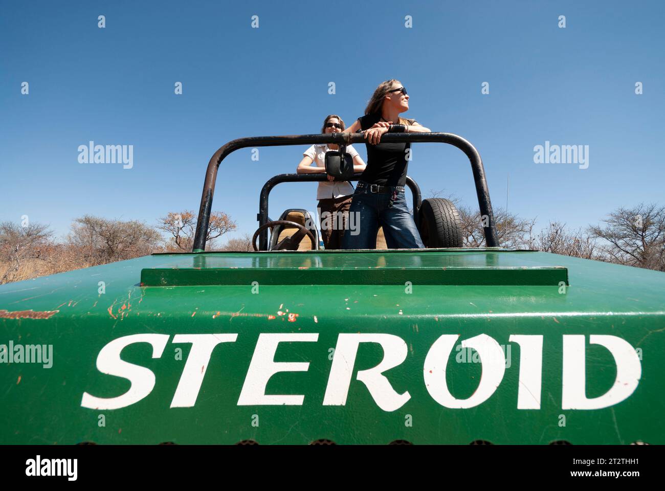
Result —
[{"label": "blue jeans of the woman in the black top", "polygon": [[383,227],[388,249],[424,249],[414,218],[406,205],[404,188],[397,188],[397,199],[388,208],[391,193],[372,193],[369,184],[358,184],[348,210],[349,221],[355,220],[357,227],[356,230],[347,228],[344,232],[342,249],[376,249],[379,227]]}]

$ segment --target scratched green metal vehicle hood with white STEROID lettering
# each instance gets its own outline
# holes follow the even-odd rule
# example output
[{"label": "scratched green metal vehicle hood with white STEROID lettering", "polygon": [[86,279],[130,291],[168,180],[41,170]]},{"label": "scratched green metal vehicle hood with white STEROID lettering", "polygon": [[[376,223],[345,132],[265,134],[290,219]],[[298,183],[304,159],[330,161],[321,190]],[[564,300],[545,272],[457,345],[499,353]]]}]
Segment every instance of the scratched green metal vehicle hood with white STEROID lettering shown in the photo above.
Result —
[{"label": "scratched green metal vehicle hood with white STEROID lettering", "polygon": [[[307,269],[297,269],[301,267]],[[438,274],[443,267],[456,271],[457,279]],[[237,269],[235,279],[232,269]],[[252,270],[260,278],[252,280],[255,284],[247,281]],[[371,276],[374,273],[364,274],[365,270],[397,273],[399,283],[385,273]],[[194,283],[206,271],[217,284],[140,285],[160,275],[171,283]],[[327,281],[316,271],[337,271],[344,283]],[[505,281],[483,284],[473,276],[475,271],[495,278],[499,271]],[[284,273],[291,277],[284,279]],[[568,281],[563,287],[555,281],[562,273]],[[414,279],[402,282],[409,275]],[[545,284],[537,284],[537,278]],[[3,285],[0,325],[0,344],[7,347],[10,342],[14,348],[46,345],[48,351],[53,346],[50,368],[16,360],[0,363],[3,443],[251,439],[260,444],[302,444],[320,438],[338,444],[665,442],[660,416],[665,410],[660,367],[665,350],[665,274],[656,271],[502,249],[151,255]],[[191,341],[176,338],[205,334],[219,339],[235,335],[235,341],[217,344],[207,359],[193,353]],[[271,365],[267,341],[278,334],[295,336],[276,345],[274,361],[301,365]],[[374,337],[358,341],[358,334]],[[119,409],[82,407],[84,393],[112,399],[130,387],[146,389],[150,377],[144,377],[145,371],[141,383],[131,385],[96,366],[104,347],[132,335],[146,335],[158,345],[153,349],[147,342],[132,343],[121,354],[122,361],[154,374],[152,390]],[[441,349],[442,340],[450,339],[444,336],[458,336],[450,353]],[[525,338],[515,341],[520,336],[541,337],[540,364],[534,363],[537,350],[528,347]],[[580,359],[579,337],[583,370],[566,375],[565,366],[579,369],[579,363],[573,363]],[[478,351],[461,346],[475,339],[485,343],[485,354],[490,353],[490,338],[501,347],[504,367],[493,389],[487,389],[487,381],[501,372],[499,361],[479,359]],[[611,351],[602,344],[608,339],[622,340],[630,350]],[[354,340],[357,355],[352,360],[348,346]],[[402,347],[403,361],[380,377],[364,378],[366,371],[371,375],[390,357],[399,361]],[[431,363],[437,356],[448,362],[443,378],[441,364]],[[637,379],[622,375],[617,381],[618,373],[630,372],[634,356],[639,357]],[[190,358],[205,363],[186,369]],[[112,357],[109,360],[109,366],[118,367]],[[259,370],[252,373],[253,361]],[[331,373],[335,361],[336,373]],[[345,366],[351,373],[348,381]],[[539,408],[518,409],[522,382],[529,375],[529,380],[535,379],[534,367],[541,369]],[[265,389],[260,387],[261,370],[265,375],[266,370],[280,368],[299,371],[277,371],[267,378]],[[201,374],[198,391],[194,373]],[[381,377],[389,385],[381,385]],[[584,381],[591,405],[593,398],[612,393],[617,383],[636,382],[636,387],[600,409],[565,409],[571,397],[565,401],[564,377],[575,384]],[[481,386],[489,391],[485,400],[471,407],[450,407],[464,406],[459,401],[473,398]],[[348,392],[340,405],[344,387]],[[442,399],[442,387],[458,402]],[[250,402],[259,401],[261,391],[278,397],[239,405],[241,394],[249,395]],[[181,402],[195,397],[194,405],[171,407],[178,393]],[[302,403],[279,403],[284,395],[300,397]],[[388,407],[407,396],[399,407]],[[532,396],[522,403],[534,405]],[[330,401],[337,405],[325,404]],[[100,415],[105,426],[100,426]]]}]

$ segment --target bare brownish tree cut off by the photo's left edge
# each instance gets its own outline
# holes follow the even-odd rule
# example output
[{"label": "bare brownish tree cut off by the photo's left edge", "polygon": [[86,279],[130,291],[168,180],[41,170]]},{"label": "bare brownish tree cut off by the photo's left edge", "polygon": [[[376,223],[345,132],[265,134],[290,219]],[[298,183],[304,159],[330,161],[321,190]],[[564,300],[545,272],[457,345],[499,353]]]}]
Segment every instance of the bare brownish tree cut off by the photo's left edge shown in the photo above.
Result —
[{"label": "bare brownish tree cut off by the photo's left edge", "polygon": [[46,261],[47,248],[53,239],[49,226],[12,222],[0,224],[0,285],[23,279],[19,271],[29,261]]}]

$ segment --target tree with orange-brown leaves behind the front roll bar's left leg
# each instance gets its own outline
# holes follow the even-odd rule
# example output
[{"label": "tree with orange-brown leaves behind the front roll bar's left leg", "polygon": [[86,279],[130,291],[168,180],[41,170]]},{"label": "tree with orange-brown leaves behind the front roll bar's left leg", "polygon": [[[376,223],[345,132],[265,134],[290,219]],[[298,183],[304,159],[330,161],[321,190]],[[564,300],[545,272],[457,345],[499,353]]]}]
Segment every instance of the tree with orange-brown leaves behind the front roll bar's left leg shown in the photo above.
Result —
[{"label": "tree with orange-brown leaves behind the front roll bar's left leg", "polygon": [[[196,214],[190,210],[178,213],[169,212],[165,217],[160,218],[157,228],[171,236],[166,246],[167,249],[191,251],[196,234]],[[213,240],[236,228],[237,225],[227,214],[213,212],[210,214],[205,242],[212,247]]]}]

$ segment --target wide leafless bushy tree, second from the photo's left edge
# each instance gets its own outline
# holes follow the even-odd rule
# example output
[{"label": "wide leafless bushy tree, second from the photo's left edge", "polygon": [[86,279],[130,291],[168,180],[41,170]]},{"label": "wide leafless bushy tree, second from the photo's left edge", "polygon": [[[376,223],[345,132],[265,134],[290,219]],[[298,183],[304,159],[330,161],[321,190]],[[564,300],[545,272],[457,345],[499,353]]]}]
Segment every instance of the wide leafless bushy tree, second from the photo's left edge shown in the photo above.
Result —
[{"label": "wide leafless bushy tree, second from the photo's left edge", "polygon": [[132,220],[108,220],[85,215],[72,223],[68,244],[78,248],[90,265],[148,255],[160,246],[162,237],[154,228]]}]

